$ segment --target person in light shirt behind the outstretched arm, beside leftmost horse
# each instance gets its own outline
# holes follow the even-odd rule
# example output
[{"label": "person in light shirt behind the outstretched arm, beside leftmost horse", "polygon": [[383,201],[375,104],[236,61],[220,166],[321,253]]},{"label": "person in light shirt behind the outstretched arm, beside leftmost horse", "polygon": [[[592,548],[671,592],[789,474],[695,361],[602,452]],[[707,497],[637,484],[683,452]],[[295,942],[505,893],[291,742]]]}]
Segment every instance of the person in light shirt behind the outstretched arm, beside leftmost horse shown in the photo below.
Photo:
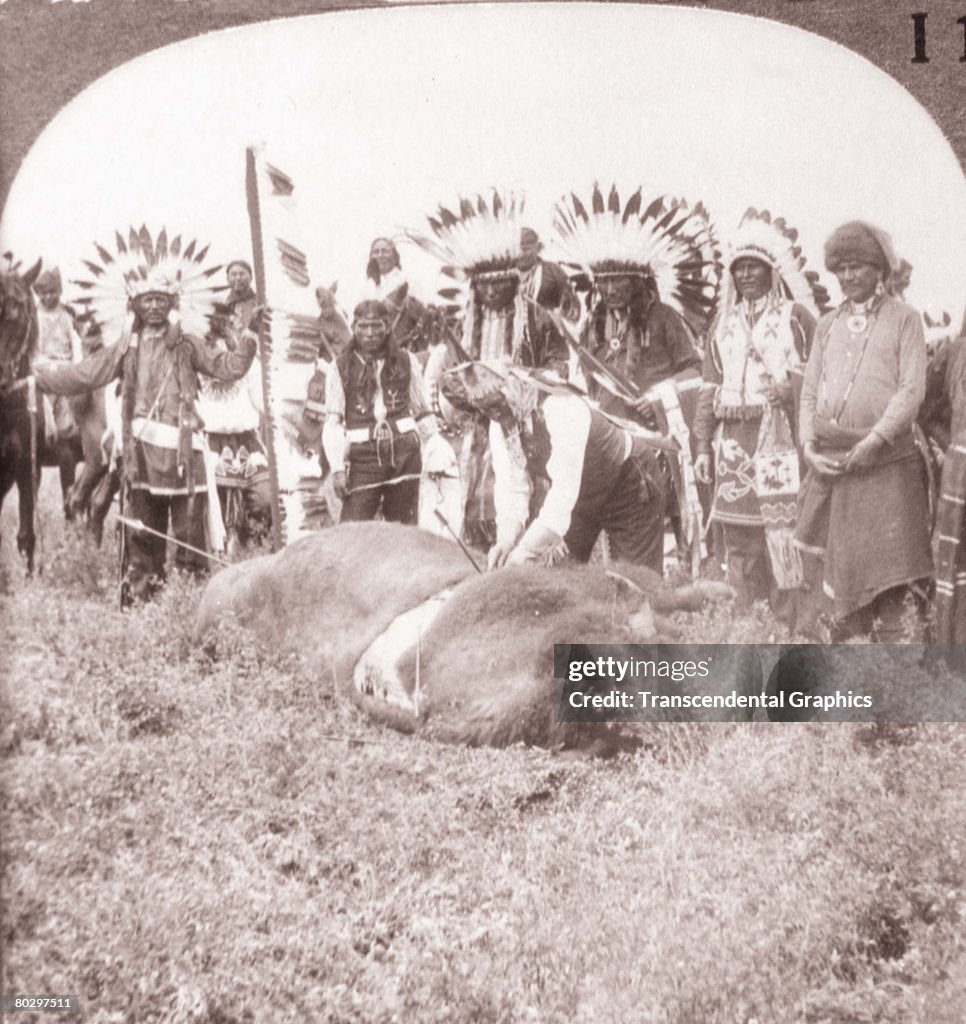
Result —
[{"label": "person in light shirt behind the outstretched arm, beside leftmost horse", "polygon": [[[71,310],[60,301],[64,285],[56,267],[45,270],[34,288],[40,303],[37,307],[36,362],[80,362],[84,357],[83,344]],[[57,395],[44,399],[44,420],[49,441],[56,452],[64,494],[64,514],[72,518],[68,494],[74,484],[77,455],[72,440],[77,437],[77,419],[67,398]]]}]

